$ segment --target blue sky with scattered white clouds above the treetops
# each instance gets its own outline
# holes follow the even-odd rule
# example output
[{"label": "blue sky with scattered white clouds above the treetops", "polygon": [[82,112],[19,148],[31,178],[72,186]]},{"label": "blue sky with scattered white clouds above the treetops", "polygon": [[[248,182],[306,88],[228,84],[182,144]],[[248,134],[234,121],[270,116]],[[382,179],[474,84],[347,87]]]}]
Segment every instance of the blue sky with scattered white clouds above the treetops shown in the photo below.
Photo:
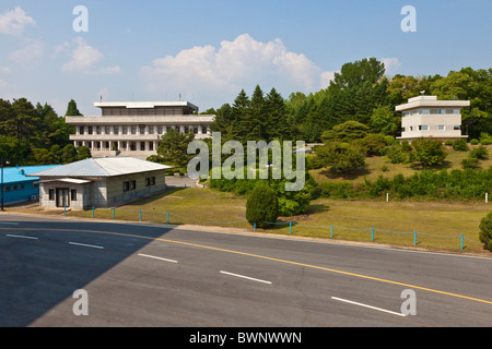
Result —
[{"label": "blue sky with scattered white clouds above the treetops", "polygon": [[[87,32],[72,23],[87,9]],[[400,28],[417,11],[417,32]],[[446,75],[492,62],[490,0],[45,0],[0,3],[0,97],[73,98],[84,115],[103,100],[189,100],[200,110],[244,88],[325,88],[341,65],[367,57],[388,75]]]}]

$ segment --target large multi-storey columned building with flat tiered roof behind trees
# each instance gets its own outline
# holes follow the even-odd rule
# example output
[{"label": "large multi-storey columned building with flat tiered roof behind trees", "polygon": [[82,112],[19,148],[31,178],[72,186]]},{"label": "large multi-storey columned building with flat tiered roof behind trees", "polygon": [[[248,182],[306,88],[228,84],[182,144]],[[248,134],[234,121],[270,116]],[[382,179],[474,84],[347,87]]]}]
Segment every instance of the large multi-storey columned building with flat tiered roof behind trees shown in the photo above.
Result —
[{"label": "large multi-storey columned building with flat tiered roof behind trees", "polygon": [[214,116],[198,115],[188,101],[95,103],[98,117],[66,117],[75,127],[70,136],[75,147],[86,146],[93,157],[131,156],[147,159],[156,155],[159,140],[169,129],[194,132],[196,139],[210,136]]}]

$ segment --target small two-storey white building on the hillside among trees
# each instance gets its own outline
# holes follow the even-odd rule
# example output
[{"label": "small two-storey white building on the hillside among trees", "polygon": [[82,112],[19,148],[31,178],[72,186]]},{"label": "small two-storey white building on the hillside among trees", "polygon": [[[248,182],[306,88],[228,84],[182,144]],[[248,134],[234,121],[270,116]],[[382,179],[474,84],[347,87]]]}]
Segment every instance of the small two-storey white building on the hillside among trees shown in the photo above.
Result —
[{"label": "small two-storey white building on the hillside among trees", "polygon": [[461,108],[469,106],[469,100],[437,100],[436,96],[410,98],[408,104],[396,107],[396,111],[402,112],[402,133],[398,139],[410,142],[421,137],[466,139],[461,134]]}]

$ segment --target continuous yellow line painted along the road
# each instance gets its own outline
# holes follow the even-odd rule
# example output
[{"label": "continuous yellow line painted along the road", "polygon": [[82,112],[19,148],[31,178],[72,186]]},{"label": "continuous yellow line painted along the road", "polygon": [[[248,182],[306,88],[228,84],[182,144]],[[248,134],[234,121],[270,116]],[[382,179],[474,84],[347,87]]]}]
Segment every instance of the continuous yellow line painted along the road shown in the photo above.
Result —
[{"label": "continuous yellow line painted along the road", "polygon": [[253,253],[247,253],[247,252],[241,252],[241,251],[226,250],[226,249],[214,248],[214,246],[208,246],[208,245],[202,245],[202,244],[196,244],[196,243],[191,243],[191,242],[184,242],[184,241],[168,240],[168,239],[162,239],[162,238],[142,237],[142,236],[136,236],[136,234],[124,233],[124,232],[97,231],[97,230],[79,230],[79,229],[39,229],[39,228],[0,228],[0,230],[37,230],[37,231],[39,231],[39,230],[42,230],[42,231],[43,231],[43,230],[47,230],[47,231],[93,232],[93,233],[104,233],[104,234],[121,236],[121,237],[127,237],[127,238],[139,238],[139,239],[147,239],[147,240],[153,240],[153,241],[163,241],[163,242],[175,243],[175,244],[180,244],[180,245],[188,245],[188,246],[194,246],[194,248],[200,248],[200,249],[207,249],[207,250],[213,250],[213,251],[226,252],[226,253],[232,253],[232,254],[245,255],[245,256],[250,256],[250,257],[260,258],[260,260],[267,260],[267,261],[280,262],[280,263],[290,264],[290,265],[304,266],[304,267],[307,267],[307,268],[313,268],[313,269],[318,269],[318,270],[325,270],[325,272],[330,272],[330,273],[341,274],[341,275],[348,275],[348,276],[353,276],[353,277],[358,277],[358,278],[362,278],[362,279],[368,279],[368,280],[374,280],[374,281],[378,281],[378,282],[385,282],[385,284],[390,284],[390,285],[403,286],[403,287],[407,287],[407,288],[420,289],[420,290],[429,291],[429,292],[433,292],[433,293],[440,293],[440,294],[445,294],[445,296],[450,296],[450,297],[456,297],[456,298],[467,299],[467,300],[471,300],[471,301],[476,301],[476,302],[481,302],[481,303],[492,304],[492,301],[488,301],[488,300],[483,300],[483,299],[479,299],[479,298],[472,298],[472,297],[462,296],[462,294],[457,294],[457,293],[450,293],[450,292],[440,291],[440,290],[435,290],[435,289],[426,288],[426,287],[421,287],[421,286],[417,286],[417,285],[403,284],[403,282],[399,282],[399,281],[393,281],[393,280],[382,279],[382,278],[372,277],[372,276],[362,275],[362,274],[355,274],[355,273],[350,273],[350,272],[343,272],[343,270],[338,270],[338,269],[327,268],[327,267],[317,266],[317,265],[312,265],[312,264],[298,263],[298,262],[293,262],[293,261],[280,260],[280,258],[274,258],[274,257],[269,257],[269,256],[259,255],[259,254],[253,254]]}]

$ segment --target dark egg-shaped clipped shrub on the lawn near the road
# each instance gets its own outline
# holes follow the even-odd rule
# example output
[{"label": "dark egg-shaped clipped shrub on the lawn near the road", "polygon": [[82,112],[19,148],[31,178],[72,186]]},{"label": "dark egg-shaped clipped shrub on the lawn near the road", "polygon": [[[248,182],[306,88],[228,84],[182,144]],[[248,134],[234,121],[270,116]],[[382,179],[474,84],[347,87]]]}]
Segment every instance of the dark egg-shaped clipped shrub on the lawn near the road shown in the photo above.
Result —
[{"label": "dark egg-shaped clipped shrub on the lawn near the road", "polygon": [[279,217],[279,202],[274,191],[263,182],[258,182],[246,202],[246,219],[250,225],[268,228]]}]

